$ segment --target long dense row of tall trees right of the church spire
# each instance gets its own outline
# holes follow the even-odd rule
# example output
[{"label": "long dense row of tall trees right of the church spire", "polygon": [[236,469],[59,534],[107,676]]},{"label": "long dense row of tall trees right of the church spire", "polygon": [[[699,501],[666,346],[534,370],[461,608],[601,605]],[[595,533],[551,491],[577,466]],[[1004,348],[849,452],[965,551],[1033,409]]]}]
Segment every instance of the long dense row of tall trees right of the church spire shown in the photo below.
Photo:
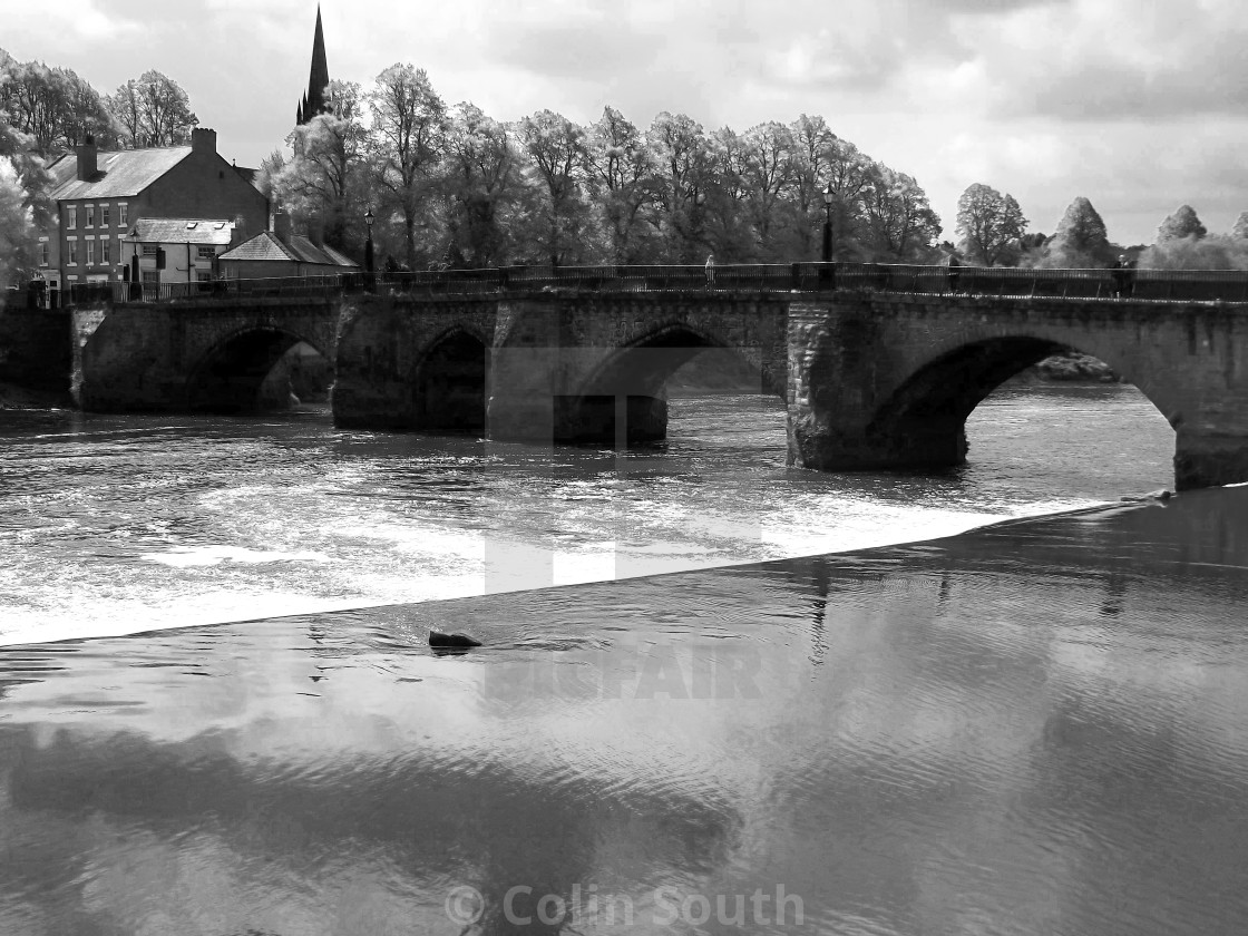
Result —
[{"label": "long dense row of tall trees right of the church spire", "polygon": [[589,126],[552,111],[503,124],[449,107],[412,65],[368,89],[331,82],[327,101],[261,185],[357,256],[372,211],[378,257],[412,270],[817,260],[829,186],[839,260],[937,256],[919,183],[822,117],[736,132],[663,112],[643,129],[607,107]]}]

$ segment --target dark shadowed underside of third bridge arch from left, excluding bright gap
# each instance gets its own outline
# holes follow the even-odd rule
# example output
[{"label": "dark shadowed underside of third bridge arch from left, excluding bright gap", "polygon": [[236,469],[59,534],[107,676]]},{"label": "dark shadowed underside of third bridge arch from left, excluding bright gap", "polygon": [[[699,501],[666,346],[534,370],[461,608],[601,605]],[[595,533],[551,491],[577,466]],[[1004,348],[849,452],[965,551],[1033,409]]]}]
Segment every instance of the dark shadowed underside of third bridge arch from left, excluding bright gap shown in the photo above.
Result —
[{"label": "dark shadowed underside of third bridge arch from left, excluding bright gap", "polygon": [[784,398],[784,387],[768,374],[760,354],[750,356],[688,322],[666,322],[612,349],[573,393],[555,398],[555,442],[634,446],[666,438],[666,384],[708,351],[735,356],[760,374],[760,388]]}]

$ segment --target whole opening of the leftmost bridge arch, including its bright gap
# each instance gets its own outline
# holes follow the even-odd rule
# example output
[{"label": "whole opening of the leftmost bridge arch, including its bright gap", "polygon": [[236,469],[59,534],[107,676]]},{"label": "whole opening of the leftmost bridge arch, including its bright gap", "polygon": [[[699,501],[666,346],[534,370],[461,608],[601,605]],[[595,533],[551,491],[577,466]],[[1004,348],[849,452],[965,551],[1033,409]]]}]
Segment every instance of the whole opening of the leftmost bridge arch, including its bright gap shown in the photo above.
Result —
[{"label": "whole opening of the leftmost bridge arch, including its bright gap", "polygon": [[226,339],[196,368],[187,408],[223,414],[288,409],[323,399],[331,379],[318,349],[290,332],[257,328]]}]

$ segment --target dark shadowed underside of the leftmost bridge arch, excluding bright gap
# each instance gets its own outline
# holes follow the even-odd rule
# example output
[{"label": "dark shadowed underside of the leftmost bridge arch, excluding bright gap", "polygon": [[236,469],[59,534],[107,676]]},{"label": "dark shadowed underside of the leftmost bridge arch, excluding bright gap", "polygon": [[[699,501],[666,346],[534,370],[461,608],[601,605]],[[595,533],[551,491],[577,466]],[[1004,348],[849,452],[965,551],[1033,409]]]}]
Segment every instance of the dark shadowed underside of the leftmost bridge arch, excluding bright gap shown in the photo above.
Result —
[{"label": "dark shadowed underside of the leftmost bridge arch, excluding bright gap", "polygon": [[298,331],[276,324],[248,324],[222,336],[188,369],[186,409],[247,413],[260,407],[265,378],[300,342],[332,359],[331,349]]}]

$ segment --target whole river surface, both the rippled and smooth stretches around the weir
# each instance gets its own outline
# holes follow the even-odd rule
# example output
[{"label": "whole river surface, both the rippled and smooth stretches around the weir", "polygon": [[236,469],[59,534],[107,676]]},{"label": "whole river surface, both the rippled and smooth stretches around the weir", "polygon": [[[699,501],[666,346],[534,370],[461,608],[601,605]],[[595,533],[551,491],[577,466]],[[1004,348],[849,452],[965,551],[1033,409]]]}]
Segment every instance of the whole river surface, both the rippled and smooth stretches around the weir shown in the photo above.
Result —
[{"label": "whole river surface, both the rippled and smooth stretches around the weir", "polygon": [[0,934],[1248,920],[1248,490],[1103,507],[1171,480],[1131,388],[935,477],[789,470],[758,397],[624,454],[0,421]]}]

